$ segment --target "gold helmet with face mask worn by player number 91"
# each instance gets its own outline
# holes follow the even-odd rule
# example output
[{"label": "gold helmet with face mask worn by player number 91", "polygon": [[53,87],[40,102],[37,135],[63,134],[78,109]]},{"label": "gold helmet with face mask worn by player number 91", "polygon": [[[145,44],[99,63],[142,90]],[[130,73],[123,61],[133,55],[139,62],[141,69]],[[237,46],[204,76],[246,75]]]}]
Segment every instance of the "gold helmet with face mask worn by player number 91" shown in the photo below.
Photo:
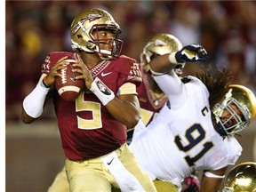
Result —
[{"label": "gold helmet with face mask worn by player number 91", "polygon": [[[243,131],[249,126],[256,113],[256,99],[250,89],[238,84],[231,84],[228,88],[229,91],[225,97],[212,109],[217,122],[215,129],[221,136],[234,135]],[[239,109],[241,115],[236,113],[234,106]],[[222,118],[224,110],[228,110],[231,114],[225,120]]]}]

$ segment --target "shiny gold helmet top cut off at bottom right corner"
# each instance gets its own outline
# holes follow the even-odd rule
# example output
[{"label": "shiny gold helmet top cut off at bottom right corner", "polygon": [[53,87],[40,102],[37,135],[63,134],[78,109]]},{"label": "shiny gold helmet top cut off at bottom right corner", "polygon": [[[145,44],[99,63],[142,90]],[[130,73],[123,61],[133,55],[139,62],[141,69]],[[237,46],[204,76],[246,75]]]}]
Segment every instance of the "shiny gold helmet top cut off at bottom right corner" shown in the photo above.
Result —
[{"label": "shiny gold helmet top cut off at bottom right corner", "polygon": [[256,192],[256,163],[237,164],[224,180],[222,192]]}]

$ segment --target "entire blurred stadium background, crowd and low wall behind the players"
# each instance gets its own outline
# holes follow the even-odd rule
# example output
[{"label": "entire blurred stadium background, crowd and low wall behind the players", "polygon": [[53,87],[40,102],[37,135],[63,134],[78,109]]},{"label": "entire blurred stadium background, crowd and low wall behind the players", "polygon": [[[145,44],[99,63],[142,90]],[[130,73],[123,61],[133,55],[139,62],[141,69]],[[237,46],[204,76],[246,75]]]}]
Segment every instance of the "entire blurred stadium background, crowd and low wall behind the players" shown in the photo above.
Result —
[{"label": "entire blurred stadium background, crowd and low wall behind the players", "polygon": [[[171,33],[183,45],[203,44],[209,65],[226,67],[234,84],[256,94],[255,1],[6,1],[5,180],[7,192],[44,192],[64,165],[52,105],[34,124],[20,121],[21,102],[36,85],[48,52],[71,51],[69,26],[90,7],[110,12],[123,29],[124,54],[140,52],[156,33]],[[193,74],[200,65],[187,65]],[[256,123],[237,138],[237,163],[256,161]]]}]

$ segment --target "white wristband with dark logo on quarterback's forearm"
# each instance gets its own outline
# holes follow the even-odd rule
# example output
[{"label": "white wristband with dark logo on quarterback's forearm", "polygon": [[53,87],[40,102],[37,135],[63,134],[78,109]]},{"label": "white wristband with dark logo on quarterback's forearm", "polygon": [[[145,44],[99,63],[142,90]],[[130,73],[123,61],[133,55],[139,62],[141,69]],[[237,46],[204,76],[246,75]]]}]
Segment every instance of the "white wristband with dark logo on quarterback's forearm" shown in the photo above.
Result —
[{"label": "white wristband with dark logo on quarterback's forearm", "polygon": [[112,92],[106,84],[100,81],[100,78],[98,78],[97,76],[92,82],[90,90],[98,97],[98,99],[104,106],[115,98],[114,92]]}]

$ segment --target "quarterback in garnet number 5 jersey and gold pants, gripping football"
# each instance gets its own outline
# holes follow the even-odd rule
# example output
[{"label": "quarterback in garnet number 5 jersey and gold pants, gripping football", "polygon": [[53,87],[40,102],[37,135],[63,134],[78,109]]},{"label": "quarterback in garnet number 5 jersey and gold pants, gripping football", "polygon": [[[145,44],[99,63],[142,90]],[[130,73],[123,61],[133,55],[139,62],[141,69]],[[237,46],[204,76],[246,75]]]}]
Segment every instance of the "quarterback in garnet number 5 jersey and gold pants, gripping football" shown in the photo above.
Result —
[{"label": "quarterback in garnet number 5 jersey and gold pants, gripping football", "polygon": [[[70,192],[156,191],[126,143],[127,129],[140,121],[136,87],[141,73],[138,61],[120,55],[120,33],[108,12],[80,12],[70,28],[74,52],[51,52],[38,84],[23,100],[21,118],[30,124],[52,97]],[[69,65],[76,79],[84,81],[84,90],[74,101],[62,99],[54,87],[70,58],[75,60]]]}]

